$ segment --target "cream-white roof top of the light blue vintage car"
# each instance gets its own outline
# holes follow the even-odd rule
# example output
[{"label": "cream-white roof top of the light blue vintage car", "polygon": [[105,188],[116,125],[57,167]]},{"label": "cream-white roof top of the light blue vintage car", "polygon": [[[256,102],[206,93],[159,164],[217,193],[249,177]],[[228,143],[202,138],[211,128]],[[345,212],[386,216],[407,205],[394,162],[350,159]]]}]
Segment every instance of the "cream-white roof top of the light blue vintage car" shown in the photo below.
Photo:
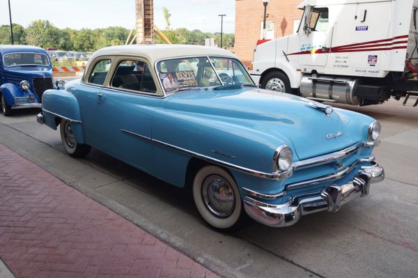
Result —
[{"label": "cream-white roof top of the light blue vintage car", "polygon": [[152,63],[160,59],[178,56],[229,56],[237,58],[229,50],[217,47],[204,47],[201,45],[118,45],[99,49],[93,54],[91,60],[97,56],[141,56]]}]

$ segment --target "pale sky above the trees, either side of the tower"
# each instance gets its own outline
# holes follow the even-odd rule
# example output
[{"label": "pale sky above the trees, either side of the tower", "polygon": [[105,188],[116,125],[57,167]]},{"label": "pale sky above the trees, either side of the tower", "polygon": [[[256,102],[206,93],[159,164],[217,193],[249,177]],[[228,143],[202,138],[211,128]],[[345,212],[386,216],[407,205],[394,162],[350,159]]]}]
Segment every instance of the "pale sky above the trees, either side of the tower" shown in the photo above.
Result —
[{"label": "pale sky above the trees, either side of the tower", "polygon": [[[72,29],[135,24],[135,0],[10,0],[13,23],[28,26],[33,20],[49,20],[59,28]],[[154,0],[155,24],[165,29],[162,7],[171,13],[173,29],[220,31],[219,14],[224,17],[224,32],[233,33],[235,0]],[[0,25],[9,24],[8,1],[0,0]]]}]

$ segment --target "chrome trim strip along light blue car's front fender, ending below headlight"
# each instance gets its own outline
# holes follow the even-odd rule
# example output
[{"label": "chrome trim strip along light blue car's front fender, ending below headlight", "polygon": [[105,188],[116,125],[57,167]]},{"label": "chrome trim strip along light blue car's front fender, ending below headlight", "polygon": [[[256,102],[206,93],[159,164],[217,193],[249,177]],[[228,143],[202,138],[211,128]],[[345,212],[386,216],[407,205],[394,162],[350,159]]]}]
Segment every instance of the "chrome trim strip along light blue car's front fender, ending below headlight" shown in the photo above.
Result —
[{"label": "chrome trim strip along light blue car's front fender, ending below headlight", "polygon": [[200,153],[195,153],[191,150],[186,150],[185,148],[180,148],[178,146],[173,146],[171,144],[167,144],[167,143],[165,143],[163,141],[160,141],[160,140],[157,140],[157,139],[151,139],[151,141],[153,141],[153,143],[155,143],[155,144],[160,144],[160,145],[165,146],[167,148],[172,148],[173,150],[177,150],[180,153],[185,153],[185,154],[191,155],[193,157],[198,157],[201,160],[205,160],[205,161],[208,161],[208,162],[211,162],[213,164],[217,164],[219,166],[226,167],[226,168],[229,168],[229,169],[234,169],[234,170],[240,171],[242,173],[248,173],[251,176],[257,176],[259,178],[268,178],[268,179],[272,179],[272,180],[284,180],[284,179],[289,178],[293,175],[293,170],[292,169],[289,169],[288,171],[284,171],[284,172],[275,171],[273,173],[265,173],[265,172],[256,171],[256,170],[253,170],[253,169],[248,169],[248,168],[245,168],[245,167],[240,167],[238,165],[231,164],[229,162],[224,162],[222,160],[217,160],[216,158],[208,157],[208,156],[202,155]]}]

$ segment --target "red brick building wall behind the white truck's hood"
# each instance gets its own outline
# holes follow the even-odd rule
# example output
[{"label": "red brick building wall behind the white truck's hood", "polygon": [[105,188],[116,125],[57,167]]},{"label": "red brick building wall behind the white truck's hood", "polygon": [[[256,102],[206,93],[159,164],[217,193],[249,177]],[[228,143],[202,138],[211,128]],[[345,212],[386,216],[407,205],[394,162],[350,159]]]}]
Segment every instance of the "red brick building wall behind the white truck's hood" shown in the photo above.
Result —
[{"label": "red brick building wall behind the white truck's hood", "polygon": [[[302,0],[268,1],[266,22],[274,31],[268,31],[270,38],[279,38],[293,33],[295,20],[300,20],[302,10],[296,7]],[[262,36],[264,6],[262,0],[235,0],[235,54],[249,65],[253,59],[254,47]],[[297,28],[297,26],[295,27]],[[271,28],[270,28],[271,29]]]}]

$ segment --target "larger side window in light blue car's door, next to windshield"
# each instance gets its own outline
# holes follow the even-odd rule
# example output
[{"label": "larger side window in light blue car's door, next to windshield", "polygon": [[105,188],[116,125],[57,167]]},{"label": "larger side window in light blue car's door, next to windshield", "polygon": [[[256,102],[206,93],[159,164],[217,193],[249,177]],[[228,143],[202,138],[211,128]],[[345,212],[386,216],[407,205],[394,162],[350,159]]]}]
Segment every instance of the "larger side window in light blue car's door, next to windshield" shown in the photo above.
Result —
[{"label": "larger side window in light blue car's door, next to windshield", "polygon": [[143,61],[121,61],[111,80],[111,86],[146,93],[157,91],[150,69]]}]

